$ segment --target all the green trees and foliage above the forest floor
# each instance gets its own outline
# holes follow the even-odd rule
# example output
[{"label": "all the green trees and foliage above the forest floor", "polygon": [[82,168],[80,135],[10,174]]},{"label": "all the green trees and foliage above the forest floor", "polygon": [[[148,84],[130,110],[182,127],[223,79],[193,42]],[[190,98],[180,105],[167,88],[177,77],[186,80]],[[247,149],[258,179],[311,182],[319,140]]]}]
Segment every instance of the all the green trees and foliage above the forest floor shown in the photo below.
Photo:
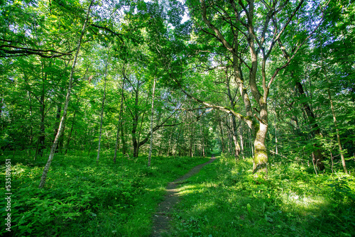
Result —
[{"label": "all the green trees and foliage above the forest floor", "polygon": [[159,155],[252,156],[265,177],[270,155],[319,171],[354,158],[351,1],[16,0],[0,14],[1,150],[99,142],[137,158],[152,139]]}]

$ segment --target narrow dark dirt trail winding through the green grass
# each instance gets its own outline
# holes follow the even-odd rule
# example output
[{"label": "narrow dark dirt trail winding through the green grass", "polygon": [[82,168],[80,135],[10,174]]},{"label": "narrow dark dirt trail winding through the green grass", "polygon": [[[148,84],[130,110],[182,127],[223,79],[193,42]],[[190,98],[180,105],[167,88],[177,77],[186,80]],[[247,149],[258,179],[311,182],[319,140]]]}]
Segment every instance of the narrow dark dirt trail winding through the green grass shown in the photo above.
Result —
[{"label": "narrow dark dirt trail winding through the green grass", "polygon": [[192,175],[197,174],[200,172],[204,165],[208,165],[212,163],[216,158],[212,157],[209,161],[197,165],[192,168],[187,174],[183,175],[182,177],[170,182],[166,187],[166,194],[164,197],[164,201],[160,202],[158,205],[158,209],[153,216],[153,234],[151,237],[160,237],[160,236],[168,236],[169,231],[169,221],[171,219],[171,213],[173,212],[173,208],[175,204],[179,201],[179,192],[180,189],[177,189],[179,182],[188,179]]}]

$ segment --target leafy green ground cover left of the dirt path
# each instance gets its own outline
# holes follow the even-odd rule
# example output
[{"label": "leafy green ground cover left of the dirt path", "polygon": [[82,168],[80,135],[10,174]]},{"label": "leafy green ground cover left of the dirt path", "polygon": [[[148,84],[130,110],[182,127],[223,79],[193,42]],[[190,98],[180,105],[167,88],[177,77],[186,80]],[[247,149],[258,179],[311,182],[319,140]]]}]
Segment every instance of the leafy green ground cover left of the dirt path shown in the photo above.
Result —
[{"label": "leafy green ground cover left of the dirt path", "polygon": [[[56,155],[45,188],[38,189],[46,158],[4,155],[1,192],[5,193],[4,160],[11,158],[13,236],[149,236],[166,184],[208,160],[153,157],[148,168],[146,156],[117,160],[116,165],[111,157],[102,155],[96,164],[94,153]],[[5,199],[0,206],[4,220]],[[3,227],[0,236],[9,234]]]}]

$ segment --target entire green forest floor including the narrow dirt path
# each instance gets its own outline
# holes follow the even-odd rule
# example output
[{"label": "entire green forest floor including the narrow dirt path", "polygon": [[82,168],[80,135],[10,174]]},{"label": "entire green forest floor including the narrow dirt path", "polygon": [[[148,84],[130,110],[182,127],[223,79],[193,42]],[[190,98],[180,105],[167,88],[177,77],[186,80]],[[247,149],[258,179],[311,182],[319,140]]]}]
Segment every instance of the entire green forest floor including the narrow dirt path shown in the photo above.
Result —
[{"label": "entire green forest floor including the narrow dirt path", "polygon": [[[0,236],[354,236],[353,160],[351,175],[340,162],[315,174],[307,158],[271,156],[264,180],[252,158],[153,156],[147,167],[146,155],[114,164],[113,154],[98,163],[95,152],[57,154],[43,189],[46,155],[1,156],[0,192],[8,159],[12,194],[11,232],[0,228]],[[3,220],[6,205],[0,200]]]}]

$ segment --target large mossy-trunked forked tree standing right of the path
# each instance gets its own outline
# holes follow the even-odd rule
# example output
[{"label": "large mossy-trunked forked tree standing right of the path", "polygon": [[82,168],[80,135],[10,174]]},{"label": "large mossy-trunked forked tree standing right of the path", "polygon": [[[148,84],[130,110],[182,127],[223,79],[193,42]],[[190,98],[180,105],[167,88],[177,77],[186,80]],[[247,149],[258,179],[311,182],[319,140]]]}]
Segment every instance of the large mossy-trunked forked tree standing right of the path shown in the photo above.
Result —
[{"label": "large mossy-trunked forked tree standing right of the path", "polygon": [[[187,2],[192,16],[195,19],[201,19],[204,26],[207,26],[207,28],[203,27],[202,22],[196,20],[195,24],[197,28],[200,28],[200,32],[211,35],[231,54],[234,80],[244,102],[246,115],[243,116],[234,109],[212,105],[189,95],[206,106],[234,114],[248,124],[255,134],[253,144],[254,172],[267,173],[268,155],[265,141],[268,131],[267,99],[271,84],[278,72],[290,64],[290,60],[310,35],[297,46],[293,56],[270,75],[267,75],[266,71],[267,60],[272,53],[276,52],[275,43],[278,42],[304,3],[303,0],[297,3],[289,1],[266,3],[253,0],[229,1],[228,3],[203,0],[199,3],[197,1]],[[284,18],[283,16],[288,17]],[[249,49],[249,55],[246,54],[245,48]],[[261,65],[259,60],[261,60]],[[250,91],[246,87],[244,72],[248,74]],[[270,77],[268,81],[267,77]],[[260,84],[258,85],[258,83]],[[257,107],[251,105],[251,97]],[[253,113],[253,110],[256,111],[256,114]]]}]

